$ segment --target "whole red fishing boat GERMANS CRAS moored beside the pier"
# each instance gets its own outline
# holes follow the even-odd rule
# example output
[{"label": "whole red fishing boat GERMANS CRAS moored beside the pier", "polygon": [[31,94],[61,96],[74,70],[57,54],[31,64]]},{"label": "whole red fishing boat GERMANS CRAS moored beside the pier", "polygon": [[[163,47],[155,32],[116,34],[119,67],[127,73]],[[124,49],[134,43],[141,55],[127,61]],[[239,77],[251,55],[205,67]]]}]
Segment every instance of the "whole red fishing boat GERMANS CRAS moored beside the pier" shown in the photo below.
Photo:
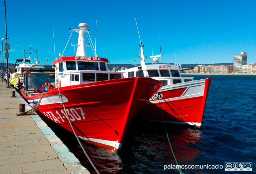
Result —
[{"label": "whole red fishing boat GERMANS CRAS moored beside the pier", "polygon": [[123,78],[123,73],[108,71],[108,59],[98,57],[96,52],[87,57],[87,28],[88,24],[82,23],[79,29],[70,30],[79,33],[76,56],[60,56],[53,62],[56,88],[48,84],[38,92],[20,92],[29,103],[40,102],[38,112],[43,118],[73,132],[69,118],[79,138],[120,149],[130,121],[162,82],[145,77]]}]

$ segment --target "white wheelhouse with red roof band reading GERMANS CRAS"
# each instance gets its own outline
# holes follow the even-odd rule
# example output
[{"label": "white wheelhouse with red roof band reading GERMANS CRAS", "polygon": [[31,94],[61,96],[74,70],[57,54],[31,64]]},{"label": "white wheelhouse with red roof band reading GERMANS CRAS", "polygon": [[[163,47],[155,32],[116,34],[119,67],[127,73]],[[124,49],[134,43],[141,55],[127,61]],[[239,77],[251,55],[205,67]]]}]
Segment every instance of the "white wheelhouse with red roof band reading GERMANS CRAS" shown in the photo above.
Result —
[{"label": "white wheelhouse with red roof band reading GERMANS CRAS", "polygon": [[100,57],[61,57],[53,62],[53,67],[61,86],[123,78],[123,73],[108,71],[108,59]]}]

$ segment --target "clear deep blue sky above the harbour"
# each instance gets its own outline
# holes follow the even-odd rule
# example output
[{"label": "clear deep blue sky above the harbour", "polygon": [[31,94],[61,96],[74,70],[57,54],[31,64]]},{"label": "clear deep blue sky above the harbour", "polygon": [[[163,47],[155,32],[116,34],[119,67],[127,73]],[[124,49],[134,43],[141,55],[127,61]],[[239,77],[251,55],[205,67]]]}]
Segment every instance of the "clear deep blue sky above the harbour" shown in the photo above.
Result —
[{"label": "clear deep blue sky above the harbour", "polygon": [[[4,0],[0,37],[5,37]],[[96,52],[111,64],[139,64],[140,38],[146,56],[159,55],[162,63],[228,63],[234,54],[247,52],[247,63],[256,63],[256,1],[55,1],[6,0],[9,62],[23,57],[30,44],[38,50],[40,63],[54,61],[62,53],[79,23],[89,24]],[[158,30],[159,23],[159,30]],[[73,56],[78,34],[73,33],[64,56]],[[89,43],[89,42],[88,42]],[[0,44],[1,45],[1,44]],[[2,45],[0,46],[2,50]],[[87,56],[93,56],[87,47]],[[136,61],[135,61],[136,60]],[[6,60],[4,60],[6,62]],[[152,62],[147,59],[146,63]]]}]

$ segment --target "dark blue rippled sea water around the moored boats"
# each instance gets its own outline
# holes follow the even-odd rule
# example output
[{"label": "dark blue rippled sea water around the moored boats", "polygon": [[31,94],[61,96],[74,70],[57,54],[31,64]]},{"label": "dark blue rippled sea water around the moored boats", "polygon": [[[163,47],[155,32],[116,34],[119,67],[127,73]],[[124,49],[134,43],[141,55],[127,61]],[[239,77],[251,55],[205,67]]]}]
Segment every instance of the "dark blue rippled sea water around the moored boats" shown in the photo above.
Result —
[{"label": "dark blue rippled sea water around the moored boats", "polygon": [[[184,168],[204,167],[181,171],[185,174],[256,173],[256,75],[186,76],[194,80],[210,77],[213,82],[201,129],[166,125],[177,163]],[[71,152],[95,173],[79,144],[73,142],[67,145]],[[177,164],[163,123],[133,120],[122,149],[117,152],[87,143],[83,146],[100,173],[180,173],[172,168]],[[252,171],[225,171],[225,162],[252,162]]]}]

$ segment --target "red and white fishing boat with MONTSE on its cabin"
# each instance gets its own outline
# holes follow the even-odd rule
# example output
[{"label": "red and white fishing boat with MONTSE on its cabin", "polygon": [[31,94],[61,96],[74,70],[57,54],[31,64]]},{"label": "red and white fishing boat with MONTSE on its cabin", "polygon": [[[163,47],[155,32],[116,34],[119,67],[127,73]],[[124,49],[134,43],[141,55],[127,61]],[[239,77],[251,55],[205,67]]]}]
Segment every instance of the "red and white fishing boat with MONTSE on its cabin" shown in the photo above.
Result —
[{"label": "red and white fishing boat with MONTSE on its cabin", "polygon": [[[140,46],[140,66],[121,70],[124,78],[150,77],[163,82],[162,88],[154,94],[137,114],[137,118],[165,123],[202,126],[204,107],[212,78],[195,80],[181,77],[181,65],[159,64],[162,55],[150,56],[152,65],[146,65],[142,43]],[[161,108],[161,110],[160,110]],[[163,117],[162,117],[162,114]]]}]

